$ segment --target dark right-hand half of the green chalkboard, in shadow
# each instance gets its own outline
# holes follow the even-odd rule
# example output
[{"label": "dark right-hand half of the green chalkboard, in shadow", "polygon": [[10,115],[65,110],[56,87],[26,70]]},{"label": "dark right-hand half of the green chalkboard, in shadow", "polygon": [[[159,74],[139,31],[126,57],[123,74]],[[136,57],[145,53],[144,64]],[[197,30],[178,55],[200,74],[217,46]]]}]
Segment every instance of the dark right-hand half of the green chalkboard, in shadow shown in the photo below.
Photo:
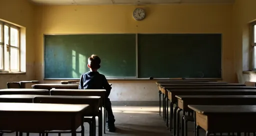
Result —
[{"label": "dark right-hand half of the green chalkboard, in shadow", "polygon": [[138,34],[138,77],[221,78],[221,34]]}]

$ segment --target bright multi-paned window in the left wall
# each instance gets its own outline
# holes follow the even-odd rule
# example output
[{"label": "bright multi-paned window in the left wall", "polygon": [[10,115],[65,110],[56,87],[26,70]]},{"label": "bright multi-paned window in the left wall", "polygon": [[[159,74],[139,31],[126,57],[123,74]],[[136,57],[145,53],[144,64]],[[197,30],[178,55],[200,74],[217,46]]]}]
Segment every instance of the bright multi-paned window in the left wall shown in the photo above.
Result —
[{"label": "bright multi-paned window in the left wall", "polygon": [[18,26],[0,21],[0,71],[17,72],[19,65],[19,37]]}]

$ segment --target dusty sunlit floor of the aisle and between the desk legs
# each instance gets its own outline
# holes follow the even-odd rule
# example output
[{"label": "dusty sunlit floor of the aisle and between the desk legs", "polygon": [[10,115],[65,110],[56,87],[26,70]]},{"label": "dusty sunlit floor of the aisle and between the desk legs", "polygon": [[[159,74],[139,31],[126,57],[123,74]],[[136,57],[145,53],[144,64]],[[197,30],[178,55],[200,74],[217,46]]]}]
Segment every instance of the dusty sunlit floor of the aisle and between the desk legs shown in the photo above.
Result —
[{"label": "dusty sunlit floor of the aisle and between the desk legs", "polygon": [[[172,135],[166,129],[162,117],[159,116],[159,107],[154,106],[113,106],[112,110],[115,115],[116,132],[108,132],[103,135]],[[97,120],[96,120],[97,122]],[[88,124],[84,124],[85,135],[89,135]],[[79,129],[79,128],[78,128]],[[78,130],[77,129],[77,130]],[[4,136],[14,136],[15,133],[4,133]],[[26,135],[23,133],[23,135]],[[37,136],[37,133],[30,133],[29,136]],[[56,135],[55,133],[49,134]],[[61,134],[70,135],[70,134]],[[80,135],[77,133],[77,135]],[[96,133],[96,135],[98,135]],[[188,136],[193,135],[193,123],[188,123]],[[205,135],[200,131],[200,135]]]}]

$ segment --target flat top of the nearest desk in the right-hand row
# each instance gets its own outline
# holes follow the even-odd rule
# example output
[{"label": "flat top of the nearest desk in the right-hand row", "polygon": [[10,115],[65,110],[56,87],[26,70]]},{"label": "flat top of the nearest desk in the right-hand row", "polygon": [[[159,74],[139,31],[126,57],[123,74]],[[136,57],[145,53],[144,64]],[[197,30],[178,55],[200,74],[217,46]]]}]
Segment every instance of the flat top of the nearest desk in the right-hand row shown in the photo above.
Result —
[{"label": "flat top of the nearest desk in the right-hand row", "polygon": [[256,105],[188,105],[200,114],[210,113],[256,113]]}]

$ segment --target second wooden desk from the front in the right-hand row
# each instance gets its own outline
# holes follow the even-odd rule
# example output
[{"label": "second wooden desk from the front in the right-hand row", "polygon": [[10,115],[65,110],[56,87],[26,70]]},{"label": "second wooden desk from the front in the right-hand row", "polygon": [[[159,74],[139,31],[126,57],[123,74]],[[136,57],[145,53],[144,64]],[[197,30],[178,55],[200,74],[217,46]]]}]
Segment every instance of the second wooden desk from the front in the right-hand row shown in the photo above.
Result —
[{"label": "second wooden desk from the front in the right-hand row", "polygon": [[[212,95],[213,94],[213,95]],[[218,93],[217,93],[218,94]],[[234,93],[235,94],[235,93]],[[256,94],[256,93],[255,93]],[[183,110],[181,120],[181,135],[187,136],[187,117],[189,120],[194,121],[192,116],[185,116],[185,112],[193,112],[188,107],[192,105],[256,105],[256,95],[176,95],[177,106]]]}]

